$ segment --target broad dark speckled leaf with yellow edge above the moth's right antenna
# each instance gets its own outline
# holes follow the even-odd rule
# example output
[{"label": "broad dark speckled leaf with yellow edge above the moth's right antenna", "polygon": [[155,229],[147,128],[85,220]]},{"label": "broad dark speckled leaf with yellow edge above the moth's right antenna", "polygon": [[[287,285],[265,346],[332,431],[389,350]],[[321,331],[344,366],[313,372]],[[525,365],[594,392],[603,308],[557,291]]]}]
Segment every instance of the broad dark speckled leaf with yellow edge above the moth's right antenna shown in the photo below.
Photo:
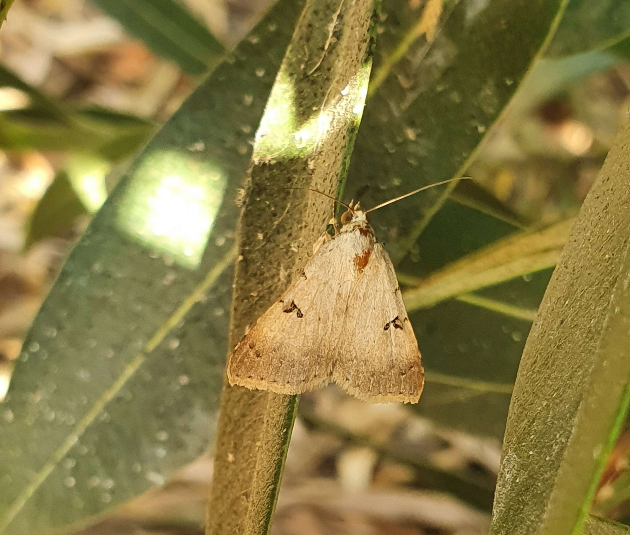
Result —
[{"label": "broad dark speckled leaf with yellow edge above the moth's right antenna", "polygon": [[[461,176],[476,147],[541,54],[563,0],[469,5],[386,0],[368,105],[348,176],[365,207]],[[506,30],[509,28],[509,30]],[[399,263],[452,187],[374,213]]]}]

